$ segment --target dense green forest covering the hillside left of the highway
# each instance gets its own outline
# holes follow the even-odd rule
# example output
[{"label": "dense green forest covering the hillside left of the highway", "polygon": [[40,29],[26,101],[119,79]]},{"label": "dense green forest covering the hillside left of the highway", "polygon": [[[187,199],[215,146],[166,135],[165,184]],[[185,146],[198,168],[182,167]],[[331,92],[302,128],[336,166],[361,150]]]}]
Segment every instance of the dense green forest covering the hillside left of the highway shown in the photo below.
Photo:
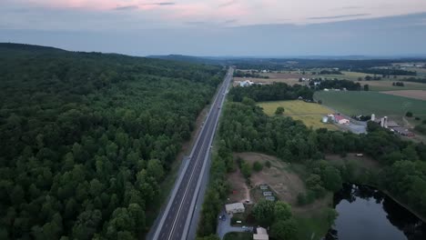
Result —
[{"label": "dense green forest covering the hillside left of the highway", "polygon": [[225,71],[0,45],[0,239],[139,239]]}]

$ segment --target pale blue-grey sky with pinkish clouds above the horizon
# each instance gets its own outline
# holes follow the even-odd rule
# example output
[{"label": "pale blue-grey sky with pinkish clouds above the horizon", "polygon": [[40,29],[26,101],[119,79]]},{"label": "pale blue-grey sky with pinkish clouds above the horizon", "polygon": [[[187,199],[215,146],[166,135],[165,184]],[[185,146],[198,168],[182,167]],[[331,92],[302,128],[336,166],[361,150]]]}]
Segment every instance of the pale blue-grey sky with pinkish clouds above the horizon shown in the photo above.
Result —
[{"label": "pale blue-grey sky with pinkish clouds above the horizon", "polygon": [[424,55],[426,0],[0,0],[0,42],[127,55]]}]

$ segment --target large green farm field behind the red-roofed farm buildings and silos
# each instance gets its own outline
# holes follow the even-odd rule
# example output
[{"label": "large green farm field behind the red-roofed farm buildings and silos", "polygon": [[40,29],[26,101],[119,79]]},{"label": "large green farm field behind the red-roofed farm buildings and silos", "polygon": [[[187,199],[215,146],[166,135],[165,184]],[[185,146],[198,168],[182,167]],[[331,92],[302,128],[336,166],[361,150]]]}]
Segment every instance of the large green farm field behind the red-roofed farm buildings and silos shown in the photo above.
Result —
[{"label": "large green farm field behind the red-roofed farm buildings and silos", "polygon": [[316,92],[316,100],[345,115],[392,116],[401,118],[411,111],[415,116],[426,117],[426,101],[379,92]]}]

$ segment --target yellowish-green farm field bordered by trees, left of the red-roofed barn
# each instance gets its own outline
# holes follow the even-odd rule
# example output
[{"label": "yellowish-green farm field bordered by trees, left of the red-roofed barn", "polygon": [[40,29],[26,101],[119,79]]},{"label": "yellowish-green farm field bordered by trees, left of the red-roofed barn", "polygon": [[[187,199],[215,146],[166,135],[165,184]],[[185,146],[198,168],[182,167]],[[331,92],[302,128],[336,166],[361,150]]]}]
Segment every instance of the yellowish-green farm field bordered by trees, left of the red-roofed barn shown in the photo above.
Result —
[{"label": "yellowish-green farm field bordered by trees, left of the red-roofed barn", "polygon": [[322,115],[332,113],[332,111],[323,105],[309,104],[299,100],[293,101],[277,101],[277,102],[262,102],[259,106],[263,108],[263,111],[267,115],[275,115],[277,107],[284,107],[284,115],[290,116],[294,120],[300,120],[307,126],[312,126],[314,129],[321,127],[328,128],[330,130],[338,130],[336,125],[323,124],[321,123]]}]

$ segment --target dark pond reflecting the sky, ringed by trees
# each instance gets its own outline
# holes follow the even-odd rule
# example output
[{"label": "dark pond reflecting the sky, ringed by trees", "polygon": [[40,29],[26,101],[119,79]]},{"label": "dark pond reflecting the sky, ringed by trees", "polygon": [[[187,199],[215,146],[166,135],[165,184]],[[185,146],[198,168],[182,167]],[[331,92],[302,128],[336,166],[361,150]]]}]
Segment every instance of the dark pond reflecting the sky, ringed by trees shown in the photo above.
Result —
[{"label": "dark pond reflecting the sky, ringed by trees", "polygon": [[334,195],[339,216],[327,240],[426,240],[426,224],[369,186],[344,185]]}]

